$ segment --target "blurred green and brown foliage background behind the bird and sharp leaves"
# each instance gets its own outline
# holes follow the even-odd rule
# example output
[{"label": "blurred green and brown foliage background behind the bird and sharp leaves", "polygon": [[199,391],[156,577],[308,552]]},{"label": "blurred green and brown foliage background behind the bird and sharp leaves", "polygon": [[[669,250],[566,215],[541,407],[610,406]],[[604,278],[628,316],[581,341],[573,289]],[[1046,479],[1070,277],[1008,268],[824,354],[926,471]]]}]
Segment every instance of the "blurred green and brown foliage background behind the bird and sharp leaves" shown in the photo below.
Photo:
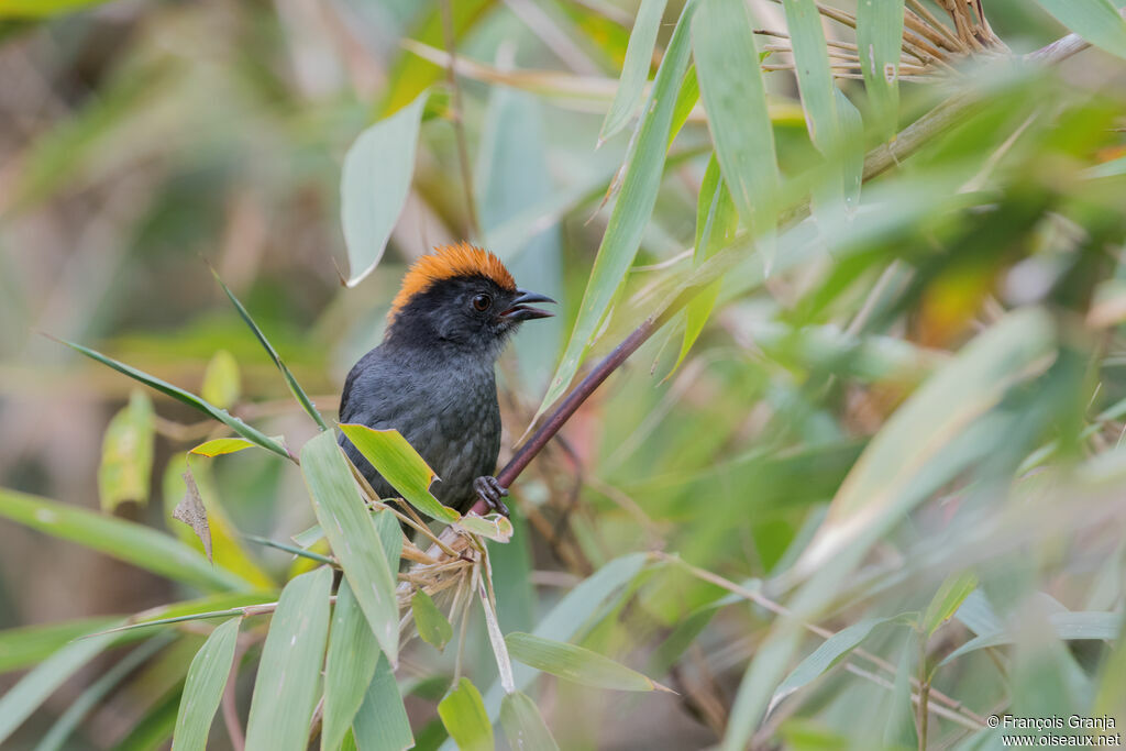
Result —
[{"label": "blurred green and brown foliage background behind the bird and sharp leaves", "polygon": [[[5,17],[0,3],[0,485],[101,508],[190,540],[190,530],[170,519],[184,494],[184,455],[226,435],[223,427],[41,332],[203,393],[300,447],[315,426],[207,263],[318,406],[334,413],[349,367],[379,341],[405,266],[434,245],[466,238],[497,251],[521,286],[552,294],[562,309],[551,323],[519,336],[499,367],[503,463],[554,372],[606,229],[613,202],[604,205],[604,196],[629,133],[596,145],[636,2],[456,0],[445,12],[419,0],[24,5],[32,9]],[[655,61],[681,5],[673,0],[665,9]],[[780,6],[751,5],[762,27],[785,28]],[[1012,51],[1067,33],[1033,3],[985,6],[993,32]],[[830,39],[852,38],[840,26],[826,23],[825,30]],[[413,46],[404,48],[404,41]],[[447,60],[452,43],[458,59],[473,63],[456,91],[435,64]],[[1089,51],[1043,75],[1007,78],[998,68],[967,69],[973,72],[962,81],[992,87],[988,105],[873,188],[893,202],[885,214],[894,221],[869,227],[841,256],[793,266],[753,289],[727,289],[676,369],[682,324],[656,336],[520,479],[518,534],[509,546],[517,551],[498,553],[524,556],[512,565],[527,572],[498,582],[507,631],[528,628],[566,588],[629,551],[670,551],[734,581],[785,571],[888,415],[1008,310],[1053,311],[1054,365],[1007,397],[1010,421],[966,439],[974,456],[958,465],[964,472],[928,490],[933,502],[883,540],[875,561],[894,567],[917,545],[941,548],[944,539],[947,555],[965,553],[958,545],[971,545],[972,525],[956,527],[954,517],[980,509],[983,493],[1004,495],[1001,477],[1008,482],[1037,449],[1054,446],[1049,454],[1084,462],[1117,448],[1121,414],[1103,414],[1126,395],[1126,350],[1114,328],[1123,312],[1117,287],[1102,289],[1105,323],[1091,325],[1084,316],[1098,284],[1121,274],[1126,190],[1120,180],[1083,180],[1090,177],[1084,170],[1126,153],[1126,66]],[[901,123],[962,81],[905,82]],[[766,82],[779,169],[784,177],[799,175],[815,151],[796,82],[789,71],[767,73]],[[345,287],[345,154],[367,125],[427,87],[435,93],[403,213],[375,271]],[[864,96],[861,81],[846,79],[841,87],[858,101]],[[464,153],[455,120],[464,127]],[[869,147],[881,143],[870,129],[861,137]],[[709,153],[697,108],[672,144],[627,283],[629,294],[640,295],[631,299],[642,305],[650,285],[691,265]],[[991,191],[988,200],[975,197],[981,191]],[[616,315],[596,354],[643,314]],[[844,334],[851,339],[839,338]],[[155,438],[148,470],[114,464],[119,444],[107,439],[131,396],[142,413],[151,399]],[[926,435],[928,424],[917,431]],[[268,454],[193,459],[193,471],[232,529],[285,540],[314,521],[296,467]],[[123,481],[114,472],[136,474]],[[1120,504],[1115,509],[1101,533],[1057,525],[1051,534],[1063,537],[1051,542],[1045,529],[1013,538],[998,552],[1011,557],[999,564],[997,590],[1044,590],[1074,610],[1120,608],[1123,516]],[[1022,551],[1033,551],[1024,567],[1016,565]],[[245,555],[267,576],[280,578],[293,565],[279,551],[251,546]],[[884,580],[884,589],[866,597],[899,605],[918,594],[921,605],[909,605],[924,609],[953,566],[936,555],[933,565]],[[724,593],[674,570],[635,588],[636,597],[590,638],[641,665],[662,664],[652,651],[663,636]],[[109,555],[0,520],[0,628],[132,614],[188,594],[182,584]],[[879,608],[895,609],[887,600]],[[851,605],[858,601],[863,609],[873,600]],[[715,743],[742,667],[771,618],[745,607],[724,613],[700,623],[688,641],[703,636],[654,674],[681,692],[679,700],[606,699],[562,683],[547,690],[543,710],[561,746]],[[856,614],[841,606],[831,617],[839,627]],[[950,644],[965,641],[964,626],[951,629]],[[134,737],[182,681],[200,641],[190,629],[188,636],[98,701],[64,748],[113,748]],[[1080,650],[1069,660],[1088,665],[1094,680],[1097,652]],[[32,748],[117,659],[118,652],[101,655],[68,681],[12,748]],[[441,690],[427,689],[432,668],[418,661],[408,706],[423,726]],[[0,674],[0,691],[20,674]],[[975,682],[972,674],[957,680]],[[883,696],[883,688],[860,683]],[[984,713],[1000,700],[991,694],[997,688],[985,681],[962,696]],[[843,718],[855,712],[844,694],[814,698],[807,709],[817,718],[787,725],[785,744],[841,748],[851,732]],[[950,737],[960,736],[951,731]],[[213,740],[229,748],[222,732]],[[851,740],[875,748],[866,742]]]}]

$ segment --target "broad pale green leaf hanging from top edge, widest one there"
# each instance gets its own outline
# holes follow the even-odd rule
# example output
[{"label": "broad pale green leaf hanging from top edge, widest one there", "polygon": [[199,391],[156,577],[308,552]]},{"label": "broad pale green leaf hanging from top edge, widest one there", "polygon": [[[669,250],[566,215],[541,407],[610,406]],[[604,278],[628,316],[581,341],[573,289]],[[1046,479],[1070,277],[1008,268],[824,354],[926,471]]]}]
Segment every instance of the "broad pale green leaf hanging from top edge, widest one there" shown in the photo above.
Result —
[{"label": "broad pale green leaf hanging from top edge, widest one there", "polygon": [[753,30],[743,0],[703,0],[692,53],[724,182],[752,236],[768,238],[778,212],[778,164]]}]

